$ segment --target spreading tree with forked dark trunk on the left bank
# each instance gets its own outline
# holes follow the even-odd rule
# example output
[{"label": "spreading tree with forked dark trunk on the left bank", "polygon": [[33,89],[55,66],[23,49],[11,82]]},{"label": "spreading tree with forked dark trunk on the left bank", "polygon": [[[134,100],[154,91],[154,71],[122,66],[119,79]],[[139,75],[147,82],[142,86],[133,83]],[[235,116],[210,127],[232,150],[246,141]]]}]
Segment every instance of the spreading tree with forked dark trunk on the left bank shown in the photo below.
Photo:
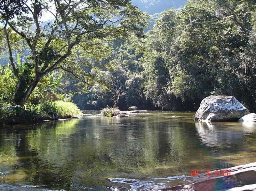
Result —
[{"label": "spreading tree with forked dark trunk on the left bank", "polygon": [[[103,43],[115,37],[128,36],[131,32],[142,36],[148,18],[129,0],[0,2],[10,63],[18,81],[13,102],[21,106],[45,75],[65,69],[67,63],[69,71],[72,70],[75,50],[94,55],[95,51],[104,51]],[[44,15],[51,15],[52,22],[42,24],[40,19]],[[24,72],[18,71],[13,59],[11,32],[24,39],[31,52],[24,63],[27,66]]]}]

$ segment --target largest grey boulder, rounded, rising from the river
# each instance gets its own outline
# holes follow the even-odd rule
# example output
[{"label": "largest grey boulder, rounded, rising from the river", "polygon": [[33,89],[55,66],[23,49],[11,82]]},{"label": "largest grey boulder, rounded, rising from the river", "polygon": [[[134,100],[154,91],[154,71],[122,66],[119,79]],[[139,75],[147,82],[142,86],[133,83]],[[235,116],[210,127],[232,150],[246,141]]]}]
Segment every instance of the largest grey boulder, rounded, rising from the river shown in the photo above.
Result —
[{"label": "largest grey boulder, rounded, rising from the river", "polygon": [[195,115],[195,121],[238,121],[250,112],[235,97],[208,96],[203,99]]}]

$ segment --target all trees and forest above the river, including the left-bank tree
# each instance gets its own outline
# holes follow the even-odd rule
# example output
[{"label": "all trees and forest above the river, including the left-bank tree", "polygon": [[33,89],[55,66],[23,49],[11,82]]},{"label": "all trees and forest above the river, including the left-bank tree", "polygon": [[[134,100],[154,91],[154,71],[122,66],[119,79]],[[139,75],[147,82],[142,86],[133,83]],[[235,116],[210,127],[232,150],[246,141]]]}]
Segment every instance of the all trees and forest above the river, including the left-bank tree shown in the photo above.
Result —
[{"label": "all trees and forest above the river, including the left-bank tree", "polygon": [[[55,12],[1,3],[1,102],[194,111],[232,95],[256,111],[255,0],[189,0],[153,16],[128,0],[53,2]],[[55,20],[40,22],[42,10]]]}]

